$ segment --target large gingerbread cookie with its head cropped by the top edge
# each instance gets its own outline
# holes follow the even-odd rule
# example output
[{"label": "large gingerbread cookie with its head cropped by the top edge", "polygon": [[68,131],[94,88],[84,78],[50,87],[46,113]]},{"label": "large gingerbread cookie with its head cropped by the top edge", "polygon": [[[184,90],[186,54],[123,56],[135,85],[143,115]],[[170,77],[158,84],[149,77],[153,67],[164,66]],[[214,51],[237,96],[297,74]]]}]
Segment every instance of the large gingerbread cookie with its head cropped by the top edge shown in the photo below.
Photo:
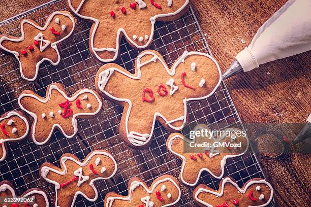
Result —
[{"label": "large gingerbread cookie with its head cropped by the top edge", "polygon": [[100,61],[114,61],[125,36],[137,49],[151,44],[155,20],[172,21],[188,10],[189,0],[68,0],[68,7],[91,21],[90,51]]}]

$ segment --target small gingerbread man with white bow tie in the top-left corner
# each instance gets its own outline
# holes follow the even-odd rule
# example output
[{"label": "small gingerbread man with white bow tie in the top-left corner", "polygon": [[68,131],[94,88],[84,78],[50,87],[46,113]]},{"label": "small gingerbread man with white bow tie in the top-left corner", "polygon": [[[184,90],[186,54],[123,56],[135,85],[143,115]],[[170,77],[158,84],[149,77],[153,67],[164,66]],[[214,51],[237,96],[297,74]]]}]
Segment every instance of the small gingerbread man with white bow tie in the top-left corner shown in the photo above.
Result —
[{"label": "small gingerbread man with white bow tie in the top-left corner", "polygon": [[57,65],[60,61],[57,44],[67,39],[73,32],[75,20],[66,11],[52,13],[44,27],[32,20],[21,22],[21,37],[3,34],[0,36],[0,48],[13,54],[19,61],[19,71],[23,79],[35,81],[41,62],[48,60]]}]

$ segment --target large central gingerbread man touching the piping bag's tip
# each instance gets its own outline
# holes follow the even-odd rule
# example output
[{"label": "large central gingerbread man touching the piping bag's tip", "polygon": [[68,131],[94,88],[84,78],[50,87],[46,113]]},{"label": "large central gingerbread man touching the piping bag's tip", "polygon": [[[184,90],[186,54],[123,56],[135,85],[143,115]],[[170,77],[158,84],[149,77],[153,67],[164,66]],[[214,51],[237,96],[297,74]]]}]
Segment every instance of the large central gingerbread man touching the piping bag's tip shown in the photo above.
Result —
[{"label": "large central gingerbread man touching the piping bag's tip", "polygon": [[96,76],[96,89],[125,107],[120,135],[135,149],[151,141],[155,120],[167,130],[181,130],[188,119],[186,104],[204,99],[221,83],[217,62],[205,53],[184,52],[168,68],[156,51],[140,53],[135,74],[114,63],[103,65]]}]

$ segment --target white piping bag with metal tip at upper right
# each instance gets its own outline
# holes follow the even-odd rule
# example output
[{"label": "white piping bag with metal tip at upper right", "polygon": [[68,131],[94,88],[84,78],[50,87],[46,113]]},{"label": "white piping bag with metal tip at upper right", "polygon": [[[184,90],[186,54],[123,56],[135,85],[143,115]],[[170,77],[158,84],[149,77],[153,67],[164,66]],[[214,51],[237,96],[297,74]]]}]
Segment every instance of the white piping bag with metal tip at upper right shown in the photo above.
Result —
[{"label": "white piping bag with metal tip at upper right", "polygon": [[289,0],[257,31],[223,75],[230,78],[266,62],[311,50],[311,0]]}]

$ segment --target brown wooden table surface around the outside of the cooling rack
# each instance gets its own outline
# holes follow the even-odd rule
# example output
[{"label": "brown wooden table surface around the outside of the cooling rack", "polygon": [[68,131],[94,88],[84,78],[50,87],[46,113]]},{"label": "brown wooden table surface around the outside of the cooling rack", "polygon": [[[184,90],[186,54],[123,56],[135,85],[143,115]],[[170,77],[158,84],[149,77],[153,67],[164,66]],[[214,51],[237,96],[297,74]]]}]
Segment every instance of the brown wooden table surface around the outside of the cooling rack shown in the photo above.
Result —
[{"label": "brown wooden table surface around the outside of the cooling rack", "polygon": [[[0,21],[48,0],[2,0]],[[235,55],[251,43],[258,28],[286,0],[191,0],[210,49],[225,72]],[[303,123],[311,113],[311,52],[261,65],[226,80],[243,123]],[[266,125],[275,136],[293,140],[301,124]],[[248,134],[254,141],[257,136]],[[254,136],[253,136],[254,135]],[[259,137],[258,139],[260,139]],[[266,140],[264,140],[266,142]],[[286,146],[289,152],[303,147]],[[264,174],[275,189],[277,206],[309,206],[309,154],[287,153],[273,158],[259,155]]]}]

